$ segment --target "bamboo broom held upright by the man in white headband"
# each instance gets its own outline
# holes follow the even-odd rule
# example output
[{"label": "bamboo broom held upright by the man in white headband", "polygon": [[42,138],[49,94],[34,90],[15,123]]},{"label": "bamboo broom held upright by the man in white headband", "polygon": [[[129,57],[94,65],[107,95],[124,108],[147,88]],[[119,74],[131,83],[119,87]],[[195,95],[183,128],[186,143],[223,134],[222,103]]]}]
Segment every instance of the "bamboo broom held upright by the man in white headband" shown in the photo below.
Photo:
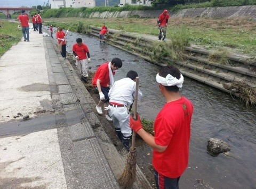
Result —
[{"label": "bamboo broom held upright by the man in white headband", "polygon": [[[133,118],[137,119],[137,103],[138,103],[138,92],[139,92],[139,77],[136,77],[136,88],[135,88],[135,97],[133,102]],[[136,132],[132,132],[132,145],[127,157],[127,163],[124,168],[123,174],[118,179],[119,185],[123,189],[129,189],[132,187],[135,182],[136,177],[136,148],[135,148],[135,136]]]}]

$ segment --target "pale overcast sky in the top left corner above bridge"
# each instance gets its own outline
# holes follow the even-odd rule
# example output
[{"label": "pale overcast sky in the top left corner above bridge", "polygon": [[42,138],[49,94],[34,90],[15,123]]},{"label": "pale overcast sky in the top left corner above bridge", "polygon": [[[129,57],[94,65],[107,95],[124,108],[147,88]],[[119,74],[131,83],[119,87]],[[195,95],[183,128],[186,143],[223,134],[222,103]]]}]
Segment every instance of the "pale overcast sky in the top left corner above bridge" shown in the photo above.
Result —
[{"label": "pale overcast sky in the top left corner above bridge", "polygon": [[[19,6],[37,6],[41,5],[43,6],[45,2],[48,2],[48,0],[0,0],[0,6],[10,6],[10,7],[19,7]],[[49,4],[51,4],[51,1],[49,0]]]}]

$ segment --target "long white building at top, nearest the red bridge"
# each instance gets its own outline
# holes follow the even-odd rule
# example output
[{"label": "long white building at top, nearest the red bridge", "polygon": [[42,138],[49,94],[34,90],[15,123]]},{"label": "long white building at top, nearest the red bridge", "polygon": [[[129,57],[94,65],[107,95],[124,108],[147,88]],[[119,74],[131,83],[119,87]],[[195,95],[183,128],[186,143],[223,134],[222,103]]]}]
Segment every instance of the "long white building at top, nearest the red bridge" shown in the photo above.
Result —
[{"label": "long white building at top, nearest the red bridge", "polygon": [[51,0],[51,8],[60,7],[94,7],[95,0]]}]

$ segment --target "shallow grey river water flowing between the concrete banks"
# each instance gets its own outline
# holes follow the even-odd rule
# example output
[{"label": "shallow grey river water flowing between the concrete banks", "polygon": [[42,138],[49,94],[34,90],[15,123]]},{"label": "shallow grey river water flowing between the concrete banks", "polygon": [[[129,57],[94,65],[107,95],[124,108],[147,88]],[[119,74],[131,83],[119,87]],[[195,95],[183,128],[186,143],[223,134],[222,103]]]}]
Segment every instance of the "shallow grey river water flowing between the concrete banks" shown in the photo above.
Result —
[{"label": "shallow grey river water flowing between the concrete banks", "polygon": [[[165,104],[155,79],[159,67],[121,49],[101,45],[95,37],[75,32],[67,36],[68,53],[72,53],[71,48],[78,37],[89,47],[92,59],[89,66],[93,71],[98,65],[118,57],[123,67],[117,71],[115,80],[125,78],[129,70],[138,72],[143,93],[138,112],[141,117],[154,120]],[[180,179],[180,188],[256,188],[256,108],[246,108],[243,102],[227,93],[186,77],[181,94],[193,102],[194,115],[189,165]],[[231,156],[210,156],[206,152],[210,138],[229,143]],[[145,163],[150,164],[152,150],[145,143],[137,145],[137,152],[144,153]],[[196,179],[207,184],[196,184]]]}]

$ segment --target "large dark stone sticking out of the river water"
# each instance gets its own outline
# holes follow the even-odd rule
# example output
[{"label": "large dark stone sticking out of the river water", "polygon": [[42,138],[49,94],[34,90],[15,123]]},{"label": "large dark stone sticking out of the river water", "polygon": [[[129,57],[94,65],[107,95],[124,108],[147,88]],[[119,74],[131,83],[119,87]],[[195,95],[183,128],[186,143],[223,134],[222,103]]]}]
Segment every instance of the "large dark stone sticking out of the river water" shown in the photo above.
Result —
[{"label": "large dark stone sticking out of the river water", "polygon": [[208,140],[207,151],[213,157],[217,157],[220,153],[227,152],[229,150],[230,145],[221,139],[211,138]]}]

